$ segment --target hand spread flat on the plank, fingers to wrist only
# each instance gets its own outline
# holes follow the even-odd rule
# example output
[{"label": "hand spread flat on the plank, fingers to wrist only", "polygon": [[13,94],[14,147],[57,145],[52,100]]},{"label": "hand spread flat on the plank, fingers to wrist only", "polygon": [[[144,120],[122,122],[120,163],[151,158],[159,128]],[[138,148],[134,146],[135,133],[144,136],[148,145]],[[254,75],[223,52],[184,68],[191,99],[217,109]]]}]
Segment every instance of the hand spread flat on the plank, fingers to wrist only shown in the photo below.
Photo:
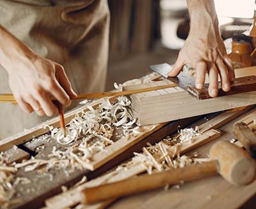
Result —
[{"label": "hand spread flat on the plank, fingers to wrist only", "polygon": [[209,95],[218,96],[218,75],[221,88],[228,92],[230,82],[234,82],[234,69],[227,56],[220,34],[214,30],[190,32],[184,47],[179,52],[175,65],[168,74],[177,76],[185,64],[196,69],[196,88],[201,89],[205,74],[209,75]]}]

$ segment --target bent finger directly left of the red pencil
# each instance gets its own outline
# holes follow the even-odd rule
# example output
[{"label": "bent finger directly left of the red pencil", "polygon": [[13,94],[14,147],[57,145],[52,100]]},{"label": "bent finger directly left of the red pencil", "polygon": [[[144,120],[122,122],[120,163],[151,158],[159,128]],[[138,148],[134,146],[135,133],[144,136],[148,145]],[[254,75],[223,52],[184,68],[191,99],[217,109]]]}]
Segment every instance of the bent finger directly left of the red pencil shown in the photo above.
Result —
[{"label": "bent finger directly left of the red pencil", "polygon": [[57,107],[52,103],[50,96],[47,94],[41,94],[36,100],[40,103],[45,115],[52,117],[56,112],[58,112]]}]

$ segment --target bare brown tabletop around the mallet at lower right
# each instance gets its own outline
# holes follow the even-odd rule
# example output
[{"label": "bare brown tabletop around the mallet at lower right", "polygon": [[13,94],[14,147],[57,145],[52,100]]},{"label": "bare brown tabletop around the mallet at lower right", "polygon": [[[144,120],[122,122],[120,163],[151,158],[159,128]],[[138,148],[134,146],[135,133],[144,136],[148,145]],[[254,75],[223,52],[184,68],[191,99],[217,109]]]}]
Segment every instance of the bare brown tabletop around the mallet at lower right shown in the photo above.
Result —
[{"label": "bare brown tabletop around the mallet at lower right", "polygon": [[[255,110],[255,108],[253,109]],[[220,130],[223,134],[220,138],[195,148],[192,152],[197,152],[200,157],[207,157],[209,148],[213,143],[218,140],[234,138],[232,125],[251,111],[243,113],[240,117],[222,126]],[[194,125],[200,123],[202,123],[202,119]],[[255,206],[255,201],[250,201],[250,206],[247,202],[255,194],[256,180],[250,185],[236,187],[229,184],[220,175],[215,175],[194,182],[185,182],[184,185],[180,185],[180,189],[173,188],[166,191],[163,188],[122,198],[109,208],[239,208],[240,206],[251,208],[253,203]]]}]

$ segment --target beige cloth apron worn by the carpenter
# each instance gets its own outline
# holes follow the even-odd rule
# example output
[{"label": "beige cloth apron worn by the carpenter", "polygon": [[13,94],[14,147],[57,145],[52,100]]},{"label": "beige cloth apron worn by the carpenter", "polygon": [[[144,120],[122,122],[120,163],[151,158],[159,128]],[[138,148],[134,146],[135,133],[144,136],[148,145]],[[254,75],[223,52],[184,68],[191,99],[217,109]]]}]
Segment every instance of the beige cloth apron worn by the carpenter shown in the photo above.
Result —
[{"label": "beige cloth apron worn by the carpenter", "polygon": [[[77,94],[104,90],[107,0],[0,0],[0,24],[37,54],[62,64]],[[10,92],[8,75],[0,68],[0,93]],[[0,103],[0,139],[46,119]]]}]

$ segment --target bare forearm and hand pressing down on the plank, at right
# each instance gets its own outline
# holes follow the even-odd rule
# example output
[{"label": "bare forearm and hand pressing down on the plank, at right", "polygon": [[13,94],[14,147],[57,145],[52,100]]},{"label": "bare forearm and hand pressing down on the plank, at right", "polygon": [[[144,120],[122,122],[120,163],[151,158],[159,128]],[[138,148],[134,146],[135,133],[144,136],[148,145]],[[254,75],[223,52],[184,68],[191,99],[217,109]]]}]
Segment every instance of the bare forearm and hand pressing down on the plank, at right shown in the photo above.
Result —
[{"label": "bare forearm and hand pressing down on the plank, at right", "polygon": [[170,76],[177,76],[184,64],[196,69],[196,87],[202,88],[209,75],[209,94],[218,96],[218,75],[224,91],[230,90],[234,69],[220,36],[213,0],[187,0],[191,27]]}]

